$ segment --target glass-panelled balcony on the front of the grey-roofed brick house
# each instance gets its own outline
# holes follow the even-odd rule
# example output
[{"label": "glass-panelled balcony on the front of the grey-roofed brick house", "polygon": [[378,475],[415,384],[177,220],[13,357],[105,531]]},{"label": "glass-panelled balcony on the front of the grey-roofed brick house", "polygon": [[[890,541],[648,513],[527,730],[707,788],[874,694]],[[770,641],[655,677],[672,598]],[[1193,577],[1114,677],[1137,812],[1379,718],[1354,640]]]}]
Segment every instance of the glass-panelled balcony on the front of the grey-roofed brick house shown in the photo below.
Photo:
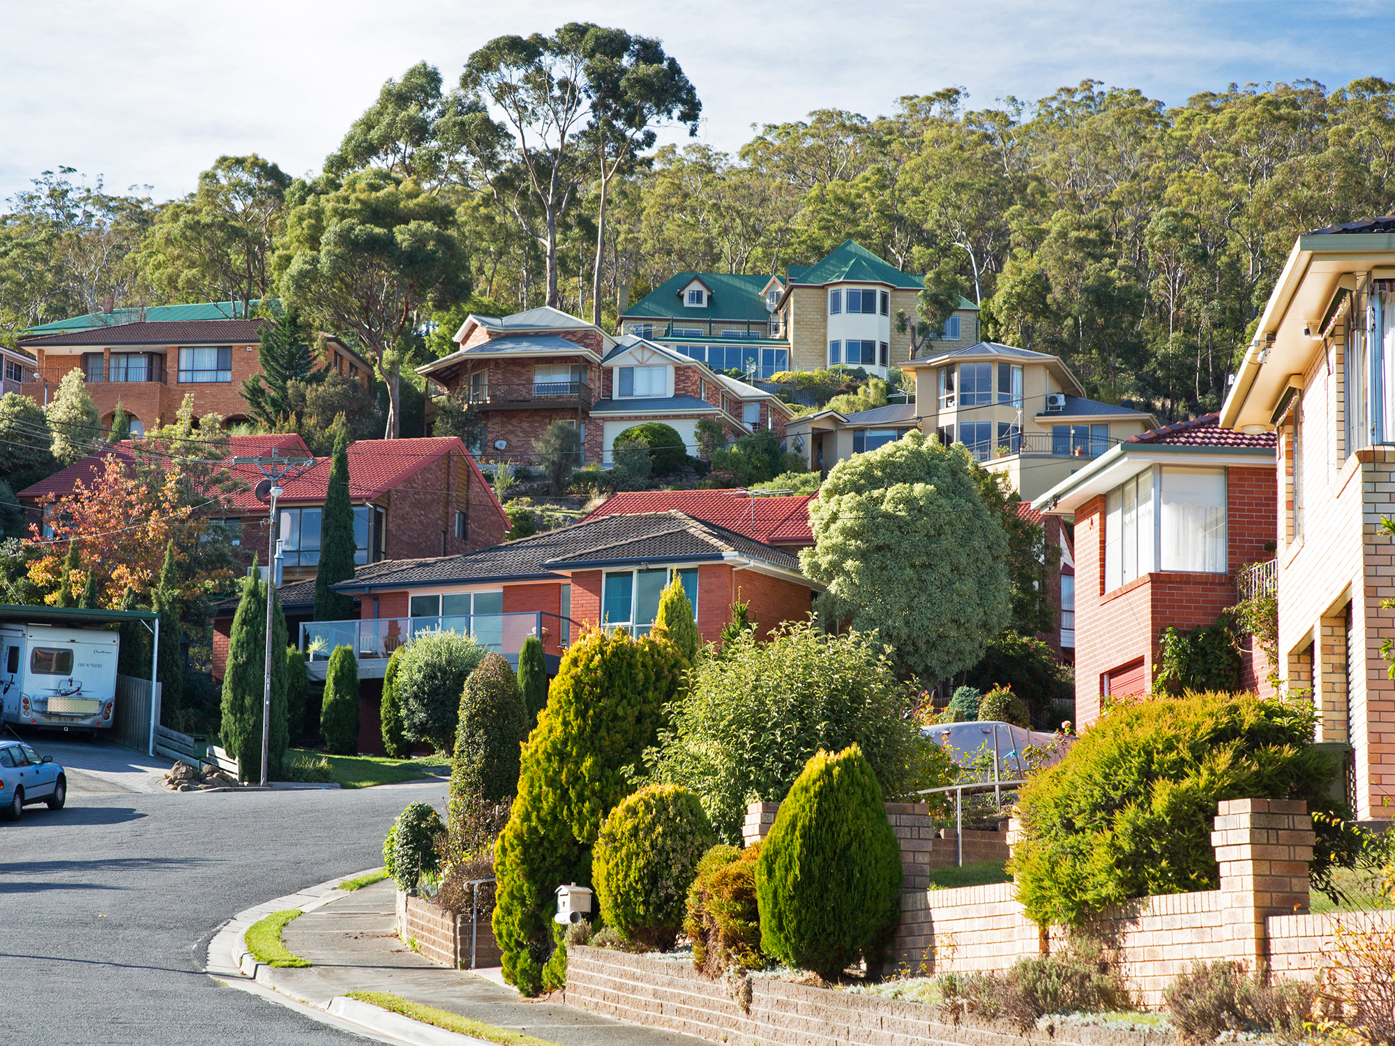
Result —
[{"label": "glass-panelled balcony on the front of the grey-roofed brick house", "polygon": [[[515,668],[523,640],[538,636],[544,646],[566,646],[569,618],[529,611],[525,614],[473,614],[435,618],[353,618],[349,621],[307,621],[300,626],[300,650],[311,679],[324,679],[329,655],[336,647],[350,647],[359,658],[360,679],[381,679],[392,651],[424,632],[459,632],[474,636],[487,651],[502,654]],[[548,658],[555,662],[555,655]],[[551,668],[555,669],[555,664]]]}]

